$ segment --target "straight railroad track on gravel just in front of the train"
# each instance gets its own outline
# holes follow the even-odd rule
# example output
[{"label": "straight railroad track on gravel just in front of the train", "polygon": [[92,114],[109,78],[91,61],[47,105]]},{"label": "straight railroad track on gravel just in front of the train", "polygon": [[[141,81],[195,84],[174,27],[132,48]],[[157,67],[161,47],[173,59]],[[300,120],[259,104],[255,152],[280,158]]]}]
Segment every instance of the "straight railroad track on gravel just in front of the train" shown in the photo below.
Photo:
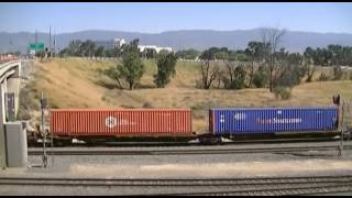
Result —
[{"label": "straight railroad track on gravel just in front of the train", "polygon": [[[344,145],[344,150],[351,150],[352,145]],[[284,146],[284,147],[231,147],[231,148],[193,148],[193,150],[140,150],[140,151],[118,151],[118,150],[47,150],[47,154],[53,155],[191,155],[191,154],[241,154],[241,153],[295,153],[309,151],[338,151],[338,145],[324,146]],[[43,155],[42,150],[29,150],[29,155]]]}]

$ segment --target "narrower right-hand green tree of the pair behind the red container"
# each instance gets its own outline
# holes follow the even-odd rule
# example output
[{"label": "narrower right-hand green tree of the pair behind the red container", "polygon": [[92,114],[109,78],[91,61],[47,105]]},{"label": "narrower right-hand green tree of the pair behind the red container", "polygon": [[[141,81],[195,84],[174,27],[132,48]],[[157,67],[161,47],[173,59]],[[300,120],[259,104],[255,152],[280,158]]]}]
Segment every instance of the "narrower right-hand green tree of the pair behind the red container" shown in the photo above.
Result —
[{"label": "narrower right-hand green tree of the pair behind the red container", "polygon": [[169,78],[176,75],[177,57],[174,53],[161,52],[157,57],[157,74],[154,75],[154,84],[156,87],[165,87],[169,82]]}]

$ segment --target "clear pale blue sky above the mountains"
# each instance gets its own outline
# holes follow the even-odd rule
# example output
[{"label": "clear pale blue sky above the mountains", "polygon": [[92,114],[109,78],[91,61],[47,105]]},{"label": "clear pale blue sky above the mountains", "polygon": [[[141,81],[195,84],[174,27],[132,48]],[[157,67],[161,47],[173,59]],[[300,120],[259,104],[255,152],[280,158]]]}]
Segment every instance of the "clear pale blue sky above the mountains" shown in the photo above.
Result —
[{"label": "clear pale blue sky above the mountains", "polygon": [[0,2],[0,32],[248,30],[352,33],[352,3]]}]

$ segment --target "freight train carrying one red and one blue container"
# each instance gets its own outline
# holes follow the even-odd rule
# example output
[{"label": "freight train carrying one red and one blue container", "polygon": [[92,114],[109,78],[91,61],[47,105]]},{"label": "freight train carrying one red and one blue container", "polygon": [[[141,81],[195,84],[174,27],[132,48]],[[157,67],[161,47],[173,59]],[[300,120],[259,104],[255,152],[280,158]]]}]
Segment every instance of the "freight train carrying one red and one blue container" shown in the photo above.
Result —
[{"label": "freight train carrying one red and one blue container", "polygon": [[50,133],[62,144],[73,139],[89,144],[131,139],[215,144],[243,134],[327,133],[339,128],[339,106],[211,108],[204,133],[193,130],[190,109],[54,109],[50,117]]}]

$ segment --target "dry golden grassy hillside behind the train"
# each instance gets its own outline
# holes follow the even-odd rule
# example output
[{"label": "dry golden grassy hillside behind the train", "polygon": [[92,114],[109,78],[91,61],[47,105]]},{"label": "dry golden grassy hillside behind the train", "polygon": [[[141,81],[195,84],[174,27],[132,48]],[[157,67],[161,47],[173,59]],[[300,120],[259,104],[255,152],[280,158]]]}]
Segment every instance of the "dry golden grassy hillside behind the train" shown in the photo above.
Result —
[{"label": "dry golden grassy hillside behind the train", "polygon": [[330,106],[332,96],[352,99],[352,80],[314,81],[293,89],[289,100],[277,100],[267,89],[196,89],[197,63],[178,62],[176,77],[165,88],[154,88],[156,64],[145,61],[146,73],[135,90],[120,90],[103,74],[118,61],[79,58],[34,62],[36,96],[43,90],[53,108],[190,108],[194,128],[207,129],[209,107]]}]

